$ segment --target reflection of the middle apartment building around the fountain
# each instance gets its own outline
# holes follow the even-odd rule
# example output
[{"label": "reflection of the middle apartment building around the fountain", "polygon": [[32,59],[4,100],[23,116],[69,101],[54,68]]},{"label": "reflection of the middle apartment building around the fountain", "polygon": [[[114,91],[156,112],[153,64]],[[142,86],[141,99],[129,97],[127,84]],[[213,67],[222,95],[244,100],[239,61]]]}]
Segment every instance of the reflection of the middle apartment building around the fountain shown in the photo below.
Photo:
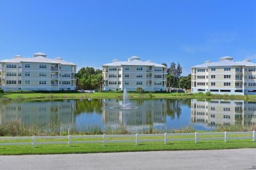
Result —
[{"label": "reflection of the middle apartment building around the fountain", "polygon": [[102,107],[102,122],[105,125],[153,125],[166,123],[166,100],[131,100],[136,110],[120,111],[117,100],[105,99]]}]

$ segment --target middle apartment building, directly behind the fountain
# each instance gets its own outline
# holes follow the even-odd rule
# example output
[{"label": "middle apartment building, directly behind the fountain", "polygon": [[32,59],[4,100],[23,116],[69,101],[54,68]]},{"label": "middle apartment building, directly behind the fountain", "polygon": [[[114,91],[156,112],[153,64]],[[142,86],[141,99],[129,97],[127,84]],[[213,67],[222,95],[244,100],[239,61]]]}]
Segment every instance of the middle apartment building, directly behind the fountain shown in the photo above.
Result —
[{"label": "middle apartment building, directly behind the fountain", "polygon": [[148,91],[166,90],[167,67],[153,61],[141,61],[132,56],[128,61],[113,60],[103,67],[103,90],[135,90],[141,87]]}]

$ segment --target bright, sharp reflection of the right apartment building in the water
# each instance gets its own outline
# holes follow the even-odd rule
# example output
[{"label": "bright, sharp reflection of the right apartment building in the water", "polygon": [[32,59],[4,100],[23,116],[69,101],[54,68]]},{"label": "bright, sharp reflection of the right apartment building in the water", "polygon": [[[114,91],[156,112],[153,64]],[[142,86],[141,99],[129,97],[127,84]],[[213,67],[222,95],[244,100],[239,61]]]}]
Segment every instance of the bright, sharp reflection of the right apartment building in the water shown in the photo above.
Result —
[{"label": "bright, sharp reflection of the right apartment building in the water", "polygon": [[256,123],[256,102],[191,99],[191,122],[208,125]]}]

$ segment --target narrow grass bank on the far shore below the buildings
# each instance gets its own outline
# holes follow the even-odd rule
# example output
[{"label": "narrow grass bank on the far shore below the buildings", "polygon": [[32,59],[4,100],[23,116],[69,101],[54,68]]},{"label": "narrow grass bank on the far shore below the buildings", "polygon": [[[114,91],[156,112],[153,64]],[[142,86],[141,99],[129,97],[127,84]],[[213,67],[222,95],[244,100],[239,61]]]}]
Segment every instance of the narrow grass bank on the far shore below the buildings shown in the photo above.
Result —
[{"label": "narrow grass bank on the far shore below the buildings", "polygon": [[[23,101],[23,100],[49,100],[49,99],[81,99],[81,98],[122,98],[122,93],[95,92],[94,94],[0,94],[0,101]],[[143,99],[239,99],[256,100],[256,95],[212,95],[212,94],[186,94],[186,93],[166,93],[166,94],[129,94],[130,98]]]}]

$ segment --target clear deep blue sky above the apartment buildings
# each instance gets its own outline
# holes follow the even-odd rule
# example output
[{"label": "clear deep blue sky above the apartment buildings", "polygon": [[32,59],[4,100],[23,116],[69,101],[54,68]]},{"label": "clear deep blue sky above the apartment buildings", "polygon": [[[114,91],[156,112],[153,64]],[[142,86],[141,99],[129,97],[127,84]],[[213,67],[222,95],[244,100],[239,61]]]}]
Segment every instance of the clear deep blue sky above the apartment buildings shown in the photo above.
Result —
[{"label": "clear deep blue sky above the apartment buildings", "polygon": [[0,0],[0,60],[42,52],[94,66],[132,55],[179,62],[256,62],[255,0]]}]

